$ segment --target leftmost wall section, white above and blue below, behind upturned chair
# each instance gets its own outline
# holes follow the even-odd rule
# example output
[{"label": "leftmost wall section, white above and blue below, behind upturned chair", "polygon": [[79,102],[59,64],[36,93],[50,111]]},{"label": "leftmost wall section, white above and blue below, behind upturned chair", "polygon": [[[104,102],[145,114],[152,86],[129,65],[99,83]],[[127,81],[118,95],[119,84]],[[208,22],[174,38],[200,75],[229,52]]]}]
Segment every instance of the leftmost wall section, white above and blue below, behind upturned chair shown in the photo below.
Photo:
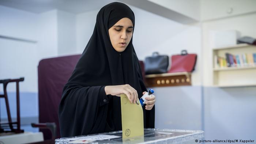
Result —
[{"label": "leftmost wall section, white above and blue below, behind upturned chair", "polygon": [[[0,6],[0,79],[25,77],[19,83],[20,116],[38,117],[38,14]],[[7,85],[12,118],[16,117],[16,84]],[[3,85],[0,85],[3,93]],[[0,99],[1,119],[6,121],[5,101]],[[26,123],[21,120],[22,124]],[[37,118],[30,122],[37,122]]]}]

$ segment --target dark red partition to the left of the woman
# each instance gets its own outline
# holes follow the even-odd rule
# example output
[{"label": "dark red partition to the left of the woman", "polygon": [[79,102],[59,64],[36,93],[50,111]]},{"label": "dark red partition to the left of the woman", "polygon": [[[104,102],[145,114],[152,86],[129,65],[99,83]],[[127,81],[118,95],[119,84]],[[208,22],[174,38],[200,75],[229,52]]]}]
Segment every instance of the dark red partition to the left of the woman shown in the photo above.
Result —
[{"label": "dark red partition to the left of the woman", "polygon": [[[39,123],[55,122],[56,138],[60,137],[58,107],[64,85],[71,76],[79,55],[47,58],[38,64]],[[40,129],[45,139],[51,139],[48,129]]]}]

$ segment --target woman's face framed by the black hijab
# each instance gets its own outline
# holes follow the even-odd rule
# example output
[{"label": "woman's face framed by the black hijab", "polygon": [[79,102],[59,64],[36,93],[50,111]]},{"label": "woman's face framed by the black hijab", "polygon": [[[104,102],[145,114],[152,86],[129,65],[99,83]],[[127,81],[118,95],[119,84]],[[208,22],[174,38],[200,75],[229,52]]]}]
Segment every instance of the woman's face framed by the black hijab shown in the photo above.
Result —
[{"label": "woman's face framed by the black hijab", "polygon": [[123,52],[131,41],[133,24],[131,19],[122,18],[109,29],[109,37],[113,48]]}]

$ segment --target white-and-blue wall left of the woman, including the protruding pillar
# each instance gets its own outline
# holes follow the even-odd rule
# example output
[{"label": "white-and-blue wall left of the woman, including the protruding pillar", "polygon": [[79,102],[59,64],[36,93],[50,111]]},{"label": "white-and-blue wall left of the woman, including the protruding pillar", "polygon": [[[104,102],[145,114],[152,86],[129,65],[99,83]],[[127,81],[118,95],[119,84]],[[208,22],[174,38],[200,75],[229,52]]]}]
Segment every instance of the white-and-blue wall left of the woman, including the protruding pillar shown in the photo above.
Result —
[{"label": "white-and-blue wall left of the woman, including the protruding pillar", "polygon": [[[25,77],[19,84],[22,124],[37,122],[39,60],[77,53],[75,15],[58,10],[33,14],[0,6],[0,79]],[[11,116],[16,117],[16,85],[7,86]],[[3,93],[3,85],[0,85]],[[7,118],[0,99],[1,119]],[[24,118],[26,121],[24,122]]]}]

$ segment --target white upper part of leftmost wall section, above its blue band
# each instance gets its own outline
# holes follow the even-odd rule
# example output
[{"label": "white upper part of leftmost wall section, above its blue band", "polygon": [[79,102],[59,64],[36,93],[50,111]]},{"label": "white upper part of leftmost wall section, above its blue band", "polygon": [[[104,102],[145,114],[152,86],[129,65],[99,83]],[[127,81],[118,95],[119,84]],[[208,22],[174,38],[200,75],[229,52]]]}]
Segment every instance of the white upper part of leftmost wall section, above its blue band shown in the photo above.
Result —
[{"label": "white upper part of leftmost wall section, above its blue band", "polygon": [[[25,76],[20,91],[37,91],[37,14],[0,6],[0,35],[28,41],[0,38],[0,79]],[[15,91],[10,84],[8,91]],[[0,88],[3,92],[3,88]]]}]

